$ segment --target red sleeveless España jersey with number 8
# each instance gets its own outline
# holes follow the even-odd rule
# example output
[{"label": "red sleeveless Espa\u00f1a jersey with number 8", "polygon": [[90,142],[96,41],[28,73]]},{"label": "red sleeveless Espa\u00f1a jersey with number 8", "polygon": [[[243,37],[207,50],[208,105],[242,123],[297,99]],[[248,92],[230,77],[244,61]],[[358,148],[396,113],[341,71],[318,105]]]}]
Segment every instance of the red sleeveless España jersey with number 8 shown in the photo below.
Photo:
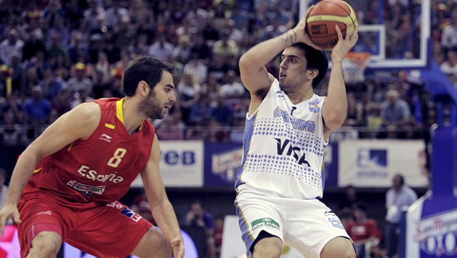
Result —
[{"label": "red sleeveless Espa\u00f1a jersey with number 8", "polygon": [[79,139],[42,158],[23,195],[39,190],[74,203],[106,203],[124,196],[151,154],[155,128],[146,119],[129,134],[123,124],[122,100],[95,100],[101,108],[99,125],[88,139]]}]

